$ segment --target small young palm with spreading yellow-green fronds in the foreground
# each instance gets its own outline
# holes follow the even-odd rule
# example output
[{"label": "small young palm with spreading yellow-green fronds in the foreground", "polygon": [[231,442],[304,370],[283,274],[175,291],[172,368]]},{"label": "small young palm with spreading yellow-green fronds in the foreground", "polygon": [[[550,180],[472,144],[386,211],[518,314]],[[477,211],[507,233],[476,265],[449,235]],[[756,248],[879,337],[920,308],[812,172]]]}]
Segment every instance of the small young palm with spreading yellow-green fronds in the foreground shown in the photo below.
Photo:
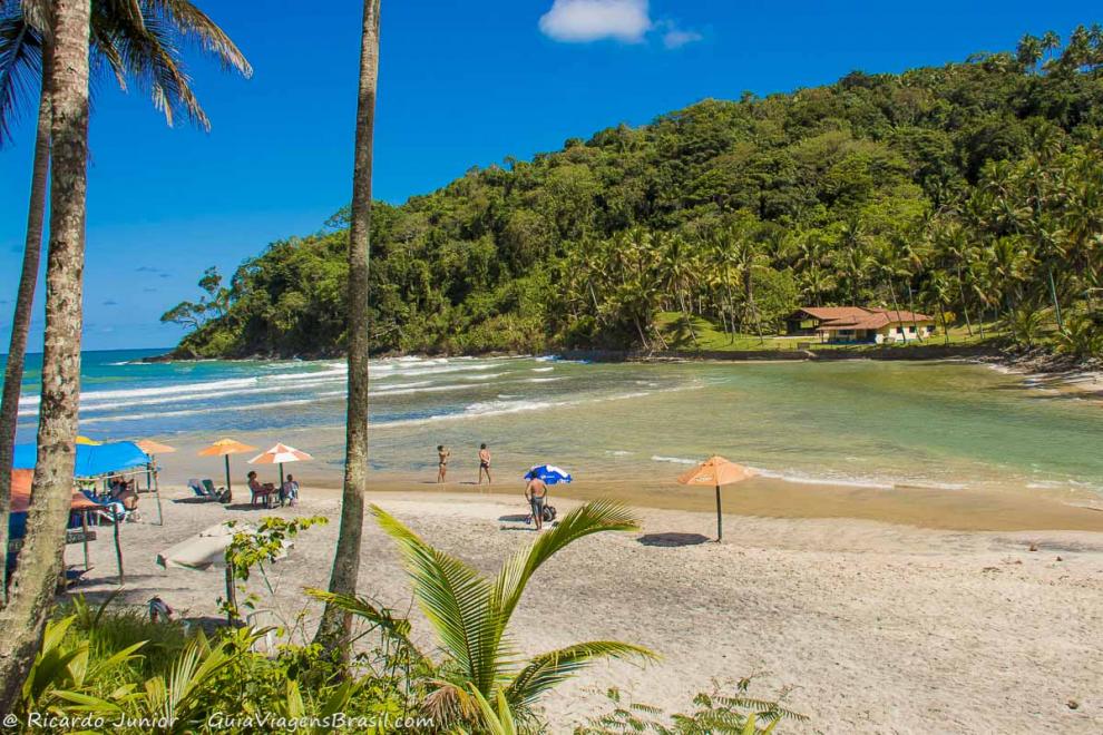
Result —
[{"label": "small young palm with spreading yellow-green fronds in the foreground", "polygon": [[519,660],[507,628],[533,575],[569,543],[603,531],[638,528],[622,507],[598,500],[577,508],[515,553],[488,579],[476,569],[433,548],[385,511],[372,506],[372,514],[393,538],[413,582],[413,595],[437,635],[443,663],[417,651],[408,627],[378,610],[367,599],[346,595],[311,594],[397,635],[418,659],[436,673],[427,707],[440,716],[438,726],[477,719],[481,699],[496,714],[513,713],[525,719],[537,700],[553,687],[597,658],[654,658],[646,648],[616,640],[578,643]]}]

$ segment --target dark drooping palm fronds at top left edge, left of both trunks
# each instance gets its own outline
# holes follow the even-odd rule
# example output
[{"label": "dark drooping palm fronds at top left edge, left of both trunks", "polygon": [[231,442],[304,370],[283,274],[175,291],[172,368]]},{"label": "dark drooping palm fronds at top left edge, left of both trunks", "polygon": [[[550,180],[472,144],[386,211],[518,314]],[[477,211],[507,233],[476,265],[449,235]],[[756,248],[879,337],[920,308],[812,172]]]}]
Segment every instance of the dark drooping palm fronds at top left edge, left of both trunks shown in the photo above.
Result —
[{"label": "dark drooping palm fronds at top left edge, left of both trunks", "polygon": [[42,37],[13,7],[0,17],[0,147],[11,140],[20,106],[37,99],[42,79]]}]

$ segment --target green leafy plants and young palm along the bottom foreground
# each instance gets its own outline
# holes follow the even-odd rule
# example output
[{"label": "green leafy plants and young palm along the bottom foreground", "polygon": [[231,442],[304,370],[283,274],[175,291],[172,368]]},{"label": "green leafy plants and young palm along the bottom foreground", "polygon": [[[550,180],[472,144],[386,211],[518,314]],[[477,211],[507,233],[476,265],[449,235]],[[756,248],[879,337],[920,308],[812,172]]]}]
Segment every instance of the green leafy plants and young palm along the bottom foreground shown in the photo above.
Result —
[{"label": "green leafy plants and young palm along the bottom foreground", "polygon": [[[399,545],[413,592],[437,636],[439,653],[411,640],[410,623],[367,597],[311,590],[360,620],[357,656],[346,669],[332,651],[287,643],[262,650],[269,629],[221,627],[188,635],[179,623],[152,623],[140,612],[98,608],[76,598],[46,629],[22,697],[13,713],[28,729],[119,733],[286,732],[334,728],[388,733],[541,733],[539,702],[554,687],[599,658],[648,660],[640,646],[609,640],[578,643],[524,660],[507,633],[526,586],[566,546],[605,531],[636,528],[632,516],[607,501],[582,506],[484,577],[427,543],[400,521],[372,508]],[[247,578],[282,551],[286,536],[318,522],[262,522],[242,531],[227,549]],[[305,636],[304,636],[305,639]],[[628,728],[661,733],[771,732],[781,718],[801,719],[778,704],[748,696],[749,680],[731,697],[699,695],[697,710],[674,715],[643,705],[619,706],[579,732]],[[760,727],[761,725],[761,727]]]}]

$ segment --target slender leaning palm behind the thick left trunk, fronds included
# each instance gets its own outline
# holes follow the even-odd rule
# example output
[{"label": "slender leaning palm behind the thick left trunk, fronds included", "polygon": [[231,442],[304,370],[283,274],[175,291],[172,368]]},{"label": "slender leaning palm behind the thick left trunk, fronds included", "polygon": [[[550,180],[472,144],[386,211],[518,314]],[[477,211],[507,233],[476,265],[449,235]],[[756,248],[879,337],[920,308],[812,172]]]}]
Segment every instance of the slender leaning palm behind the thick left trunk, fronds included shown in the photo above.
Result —
[{"label": "slender leaning palm behind the thick left trunk, fronds included", "polygon": [[[11,342],[0,400],[0,549],[7,548],[11,464],[23,379],[23,355],[30,332],[46,218],[46,189],[50,168],[50,33],[46,6],[23,0],[11,3],[0,19],[0,145],[8,137],[21,88],[39,88],[38,125],[31,169],[31,195],[23,242],[23,264],[12,317]],[[194,38],[216,55],[226,68],[252,75],[248,61],[234,42],[187,0],[95,0],[90,16],[90,45],[120,87],[127,79],[149,90],[154,106],[169,125],[183,112],[209,130],[211,124],[192,92],[179,53],[179,41]],[[37,77],[37,79],[36,79]],[[7,597],[7,570],[0,570],[0,599]]]}]

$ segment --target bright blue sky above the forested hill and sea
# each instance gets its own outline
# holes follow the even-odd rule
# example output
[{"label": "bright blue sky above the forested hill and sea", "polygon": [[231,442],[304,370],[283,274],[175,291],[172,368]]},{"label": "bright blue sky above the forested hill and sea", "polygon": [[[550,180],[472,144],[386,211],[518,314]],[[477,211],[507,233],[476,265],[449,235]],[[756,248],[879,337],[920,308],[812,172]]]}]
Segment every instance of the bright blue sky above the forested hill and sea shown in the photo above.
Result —
[{"label": "bright blue sky above the forested hill and sea", "polygon": [[[137,89],[96,85],[86,346],[159,347],[158,323],[270,242],[316,231],[350,198],[360,12],[351,0],[195,0],[255,74],[193,53],[213,129],[169,129]],[[705,97],[900,71],[1067,35],[1099,18],[1054,0],[926,3],[735,0],[383,0],[375,194],[400,203],[472,165],[526,158]],[[0,351],[7,349],[29,187],[29,115],[0,150]],[[41,349],[41,306],[31,351]]]}]

